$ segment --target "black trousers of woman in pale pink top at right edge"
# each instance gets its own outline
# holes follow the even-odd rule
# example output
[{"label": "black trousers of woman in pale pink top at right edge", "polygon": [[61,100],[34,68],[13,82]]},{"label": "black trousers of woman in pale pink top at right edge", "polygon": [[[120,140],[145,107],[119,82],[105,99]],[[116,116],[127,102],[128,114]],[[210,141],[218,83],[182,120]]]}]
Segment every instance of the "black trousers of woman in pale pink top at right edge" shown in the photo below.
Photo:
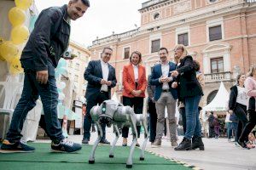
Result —
[{"label": "black trousers of woman in pale pink top at right edge", "polygon": [[243,128],[241,136],[240,136],[240,141],[248,141],[248,135],[249,133],[252,132],[253,128],[256,125],[256,111],[249,110],[248,111],[248,122],[246,126]]}]

